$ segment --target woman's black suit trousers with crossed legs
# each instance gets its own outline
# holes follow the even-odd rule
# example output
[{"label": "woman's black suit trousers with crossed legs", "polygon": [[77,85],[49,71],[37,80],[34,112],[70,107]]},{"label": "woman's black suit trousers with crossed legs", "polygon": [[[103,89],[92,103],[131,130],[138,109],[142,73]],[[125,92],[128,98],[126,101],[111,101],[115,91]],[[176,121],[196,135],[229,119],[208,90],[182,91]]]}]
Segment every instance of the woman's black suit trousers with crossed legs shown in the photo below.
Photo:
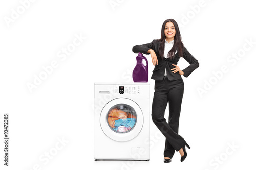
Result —
[{"label": "woman's black suit trousers with crossed legs", "polygon": [[[168,78],[155,80],[155,92],[152,103],[152,120],[165,136],[164,157],[172,158],[175,150],[179,151],[185,140],[178,134],[181,103],[184,92],[183,79],[170,81]],[[164,112],[169,102],[169,120]]]}]

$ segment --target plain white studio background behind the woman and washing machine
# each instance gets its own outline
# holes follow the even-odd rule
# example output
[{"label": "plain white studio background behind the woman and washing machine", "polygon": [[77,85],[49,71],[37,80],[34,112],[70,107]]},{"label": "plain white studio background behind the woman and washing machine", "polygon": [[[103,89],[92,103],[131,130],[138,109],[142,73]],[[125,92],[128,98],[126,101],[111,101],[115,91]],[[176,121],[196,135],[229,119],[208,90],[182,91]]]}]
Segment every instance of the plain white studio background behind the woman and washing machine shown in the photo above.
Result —
[{"label": "plain white studio background behind the woman and washing machine", "polygon": [[[10,120],[9,166],[3,165],[1,142],[1,169],[255,168],[252,1],[28,2],[0,3],[2,139],[5,113]],[[94,82],[133,82],[137,54],[132,47],[159,39],[162,23],[170,18],[179,23],[184,45],[200,63],[188,78],[182,76],[179,134],[191,147],[186,160],[181,163],[176,152],[172,163],[163,163],[165,137],[151,121],[149,162],[94,161]],[[67,58],[59,58],[75,35],[86,38]],[[150,55],[144,56],[151,77],[154,65]],[[30,91],[27,84],[53,61],[58,66]],[[181,69],[188,65],[182,58],[178,63]],[[226,71],[220,73],[222,67]],[[154,80],[149,82],[152,101]],[[58,145],[60,139],[66,143]],[[61,149],[54,149],[56,144]],[[57,153],[47,161],[50,151]]]}]

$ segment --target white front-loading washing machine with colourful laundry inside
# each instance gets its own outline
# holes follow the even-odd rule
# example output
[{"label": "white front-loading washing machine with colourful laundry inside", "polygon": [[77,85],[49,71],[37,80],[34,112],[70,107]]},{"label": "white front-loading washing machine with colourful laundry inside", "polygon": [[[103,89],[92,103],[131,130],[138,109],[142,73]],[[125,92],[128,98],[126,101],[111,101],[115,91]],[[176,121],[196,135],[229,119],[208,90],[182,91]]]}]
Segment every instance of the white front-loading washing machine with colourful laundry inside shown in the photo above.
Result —
[{"label": "white front-loading washing machine with colourful laundry inside", "polygon": [[150,84],[94,84],[94,159],[150,159]]}]

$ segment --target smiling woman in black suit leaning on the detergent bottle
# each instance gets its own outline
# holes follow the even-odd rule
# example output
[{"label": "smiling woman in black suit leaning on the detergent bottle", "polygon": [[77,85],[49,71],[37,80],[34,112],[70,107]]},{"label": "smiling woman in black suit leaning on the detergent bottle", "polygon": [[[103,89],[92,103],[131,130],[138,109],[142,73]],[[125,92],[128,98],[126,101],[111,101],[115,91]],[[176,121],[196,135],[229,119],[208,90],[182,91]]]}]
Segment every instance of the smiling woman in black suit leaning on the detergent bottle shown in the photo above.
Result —
[{"label": "smiling woman in black suit leaning on the detergent bottle", "polygon": [[[134,53],[151,54],[155,66],[152,79],[155,80],[155,92],[152,103],[152,120],[157,128],[166,137],[164,162],[169,163],[176,151],[181,155],[181,162],[187,156],[185,146],[189,145],[178,134],[179,117],[184,91],[184,82],[181,77],[188,77],[199,67],[198,61],[184,47],[180,30],[174,19],[163,22],[161,38],[151,43],[135,45]],[[180,70],[177,62],[183,57],[190,65]],[[169,120],[164,118],[164,112],[169,102]]]}]

